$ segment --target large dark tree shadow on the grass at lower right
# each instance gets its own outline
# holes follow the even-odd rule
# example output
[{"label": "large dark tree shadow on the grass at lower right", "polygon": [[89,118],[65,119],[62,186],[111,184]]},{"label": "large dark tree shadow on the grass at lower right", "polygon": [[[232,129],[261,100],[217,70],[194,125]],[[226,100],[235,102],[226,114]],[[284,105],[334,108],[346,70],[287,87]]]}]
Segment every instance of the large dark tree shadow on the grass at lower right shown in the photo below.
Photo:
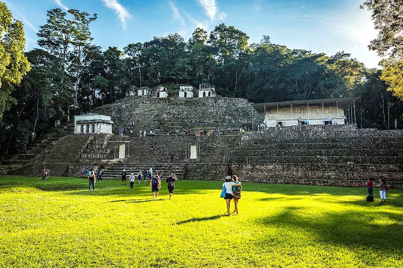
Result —
[{"label": "large dark tree shadow on the grass at lower right", "polygon": [[[346,211],[312,215],[301,214],[298,208],[287,207],[278,215],[257,218],[255,222],[266,227],[277,227],[280,232],[307,231],[322,243],[389,252],[402,250],[401,213]],[[271,241],[272,237],[263,238],[258,245],[264,247]]]}]

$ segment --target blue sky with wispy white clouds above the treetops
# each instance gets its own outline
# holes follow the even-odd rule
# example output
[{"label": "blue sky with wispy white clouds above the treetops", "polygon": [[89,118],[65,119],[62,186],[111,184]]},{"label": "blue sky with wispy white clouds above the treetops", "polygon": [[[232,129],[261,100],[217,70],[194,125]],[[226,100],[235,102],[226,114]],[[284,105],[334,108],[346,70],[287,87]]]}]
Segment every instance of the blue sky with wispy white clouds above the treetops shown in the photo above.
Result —
[{"label": "blue sky with wispy white clouds above the treetops", "polygon": [[179,33],[185,39],[197,27],[208,32],[219,23],[233,25],[258,42],[262,35],[294,49],[332,55],[351,53],[367,67],[378,67],[369,41],[376,37],[363,0],[0,0],[25,25],[27,50],[38,47],[36,32],[46,22],[46,11],[78,9],[98,19],[91,31],[94,43],[123,48],[154,36]]}]

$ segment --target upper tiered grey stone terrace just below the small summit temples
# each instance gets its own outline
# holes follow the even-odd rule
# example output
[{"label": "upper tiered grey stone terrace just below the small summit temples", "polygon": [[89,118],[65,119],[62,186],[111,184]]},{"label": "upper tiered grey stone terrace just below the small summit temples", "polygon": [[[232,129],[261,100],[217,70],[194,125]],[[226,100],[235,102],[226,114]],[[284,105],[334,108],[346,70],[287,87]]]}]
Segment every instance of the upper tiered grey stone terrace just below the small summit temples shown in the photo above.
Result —
[{"label": "upper tiered grey stone terrace just below the small summit temples", "polygon": [[111,116],[114,133],[119,125],[128,127],[134,122],[138,135],[140,129],[159,129],[157,134],[181,134],[185,128],[193,131],[197,127],[239,129],[250,124],[251,111],[248,101],[239,98],[128,97],[93,112]]}]

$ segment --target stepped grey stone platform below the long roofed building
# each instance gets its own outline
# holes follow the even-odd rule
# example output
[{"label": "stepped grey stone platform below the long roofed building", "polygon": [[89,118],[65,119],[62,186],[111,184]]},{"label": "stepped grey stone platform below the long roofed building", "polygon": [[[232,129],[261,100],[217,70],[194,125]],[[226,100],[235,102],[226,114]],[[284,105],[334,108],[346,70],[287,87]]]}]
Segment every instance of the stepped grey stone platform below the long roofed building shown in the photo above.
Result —
[{"label": "stepped grey stone platform below the long roofed building", "polygon": [[234,162],[244,181],[403,187],[403,132],[269,131],[242,137]]}]

